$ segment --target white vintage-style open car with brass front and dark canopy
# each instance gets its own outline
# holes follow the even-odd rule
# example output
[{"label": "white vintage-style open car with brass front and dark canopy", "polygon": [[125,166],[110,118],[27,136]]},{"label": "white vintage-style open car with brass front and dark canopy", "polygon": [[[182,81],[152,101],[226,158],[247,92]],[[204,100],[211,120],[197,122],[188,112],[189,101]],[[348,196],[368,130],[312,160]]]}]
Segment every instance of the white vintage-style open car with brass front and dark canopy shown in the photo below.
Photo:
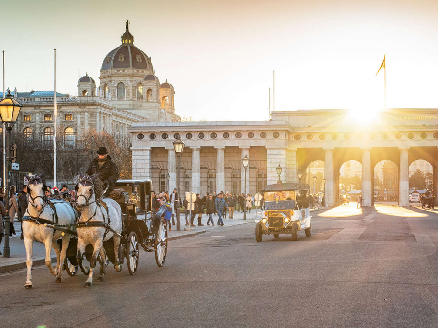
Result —
[{"label": "white vintage-style open car with brass front and dark canopy", "polygon": [[304,230],[307,237],[312,232],[309,212],[309,189],[305,183],[277,183],[267,185],[264,195],[261,220],[255,220],[255,239],[261,241],[264,234],[292,234],[298,239],[298,231]]}]

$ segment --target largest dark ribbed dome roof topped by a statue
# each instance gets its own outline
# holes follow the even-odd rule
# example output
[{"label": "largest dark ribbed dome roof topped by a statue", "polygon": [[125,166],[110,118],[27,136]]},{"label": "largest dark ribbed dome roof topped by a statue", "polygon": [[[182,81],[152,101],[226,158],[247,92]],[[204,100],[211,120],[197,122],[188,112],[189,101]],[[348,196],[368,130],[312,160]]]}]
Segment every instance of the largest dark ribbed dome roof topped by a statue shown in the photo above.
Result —
[{"label": "largest dark ribbed dome roof topped by a statue", "polygon": [[129,22],[126,22],[126,32],[122,35],[122,44],[111,50],[103,59],[101,70],[111,69],[141,69],[153,72],[151,59],[134,46],[134,36],[128,30]]}]

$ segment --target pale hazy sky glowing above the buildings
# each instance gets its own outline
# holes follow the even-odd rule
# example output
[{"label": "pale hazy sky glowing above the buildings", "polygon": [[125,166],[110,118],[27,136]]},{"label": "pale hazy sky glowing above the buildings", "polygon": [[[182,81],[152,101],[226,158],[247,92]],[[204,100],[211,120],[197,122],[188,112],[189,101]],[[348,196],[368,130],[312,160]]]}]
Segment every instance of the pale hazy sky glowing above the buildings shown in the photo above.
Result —
[{"label": "pale hazy sky glowing above the buildings", "polygon": [[[275,110],[438,107],[438,1],[10,1],[2,4],[5,86],[78,94],[99,81],[126,20],[155,75],[194,121]],[[5,14],[9,12],[10,14]]]}]

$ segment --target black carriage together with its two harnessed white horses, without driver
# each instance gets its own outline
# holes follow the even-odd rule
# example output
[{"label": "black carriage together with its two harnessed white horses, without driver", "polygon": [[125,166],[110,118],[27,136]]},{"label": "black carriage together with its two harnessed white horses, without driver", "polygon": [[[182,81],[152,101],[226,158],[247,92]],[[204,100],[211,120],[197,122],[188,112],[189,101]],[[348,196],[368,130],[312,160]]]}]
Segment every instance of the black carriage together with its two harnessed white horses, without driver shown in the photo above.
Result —
[{"label": "black carriage together with its two harnessed white horses, without driver", "polygon": [[[91,286],[96,260],[101,263],[98,279],[100,281],[103,281],[108,261],[114,264],[116,271],[120,271],[122,269],[120,264],[124,263],[124,258],[127,261],[128,272],[134,275],[138,268],[139,246],[144,251],[155,252],[155,262],[158,266],[162,266],[166,260],[167,229],[162,219],[166,206],[152,213],[152,181],[119,180],[109,198],[100,199],[98,195],[102,195],[102,183],[96,178],[97,175],[92,177],[80,175],[74,204],[81,210],[78,218],[78,212],[73,209],[73,204],[43,195],[44,184],[41,175],[29,177],[30,200],[27,216],[24,216],[25,245],[28,244],[26,240],[35,239],[35,232],[32,229],[38,227],[46,234],[49,228],[53,231],[53,248],[57,253],[59,270],[51,266],[47,255],[46,265],[49,266],[50,272],[57,276],[57,282],[61,280],[60,272],[64,264],[64,269],[70,276],[78,272],[78,267],[84,274],[89,274],[85,286]],[[60,212],[60,206],[67,206],[69,215],[65,216],[69,216],[68,220]],[[48,213],[44,214],[45,212]],[[61,215],[64,221],[61,220]],[[30,232],[26,233],[26,231]],[[47,236],[44,242],[46,253],[49,239],[51,241],[52,237]],[[30,242],[32,243],[32,240]],[[91,269],[82,266],[84,254],[90,262]],[[32,259],[31,248],[30,259]],[[28,267],[26,288],[32,288],[30,279],[32,276]]]}]

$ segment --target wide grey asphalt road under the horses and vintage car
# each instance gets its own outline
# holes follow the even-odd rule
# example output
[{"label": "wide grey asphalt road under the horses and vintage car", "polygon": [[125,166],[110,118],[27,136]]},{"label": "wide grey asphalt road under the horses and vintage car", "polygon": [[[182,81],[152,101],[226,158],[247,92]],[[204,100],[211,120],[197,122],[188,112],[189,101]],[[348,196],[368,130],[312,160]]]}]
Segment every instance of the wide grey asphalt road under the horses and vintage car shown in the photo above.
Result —
[{"label": "wide grey asphalt road under the horses and vintage car", "polygon": [[253,222],[171,241],[162,268],[141,251],[55,284],[46,267],[0,276],[1,327],[438,327],[438,211],[356,202],[256,242]]}]

